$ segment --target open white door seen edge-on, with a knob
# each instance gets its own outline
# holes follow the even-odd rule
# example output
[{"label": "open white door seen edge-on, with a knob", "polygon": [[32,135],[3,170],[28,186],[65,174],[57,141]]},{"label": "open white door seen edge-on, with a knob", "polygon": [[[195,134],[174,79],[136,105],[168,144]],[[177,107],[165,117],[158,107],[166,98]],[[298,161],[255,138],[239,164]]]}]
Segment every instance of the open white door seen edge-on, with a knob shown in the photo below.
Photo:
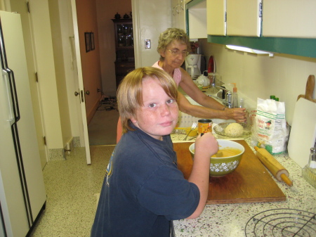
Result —
[{"label": "open white door seen edge-on, with a knob", "polygon": [[78,100],[80,101],[81,122],[82,122],[82,129],[81,129],[82,136],[80,136],[80,138],[82,138],[82,137],[84,138],[84,147],[86,148],[86,163],[91,164],[89,136],[88,136],[88,124],[86,122],[86,103],[85,103],[85,98],[84,98],[84,80],[82,77],[82,69],[81,69],[81,55],[80,55],[80,47],[79,47],[79,32],[78,32],[76,0],[71,0],[71,6],[72,6],[72,24],[74,25],[74,53],[75,53],[75,55],[73,56],[73,58],[77,62],[77,65],[74,65],[74,68],[77,68],[77,75],[75,75],[75,76],[77,76],[78,88],[79,88],[78,91],[76,91],[76,92],[77,92]]}]

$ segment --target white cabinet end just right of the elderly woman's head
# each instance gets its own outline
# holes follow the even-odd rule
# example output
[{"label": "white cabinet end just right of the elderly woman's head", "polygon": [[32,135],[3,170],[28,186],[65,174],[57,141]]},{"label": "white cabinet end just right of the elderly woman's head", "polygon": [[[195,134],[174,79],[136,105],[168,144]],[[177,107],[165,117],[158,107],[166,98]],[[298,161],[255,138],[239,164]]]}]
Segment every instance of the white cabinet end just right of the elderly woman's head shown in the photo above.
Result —
[{"label": "white cabinet end just right of the elderly woman's head", "polygon": [[193,0],[185,5],[187,34],[191,41],[207,37],[206,0]]}]

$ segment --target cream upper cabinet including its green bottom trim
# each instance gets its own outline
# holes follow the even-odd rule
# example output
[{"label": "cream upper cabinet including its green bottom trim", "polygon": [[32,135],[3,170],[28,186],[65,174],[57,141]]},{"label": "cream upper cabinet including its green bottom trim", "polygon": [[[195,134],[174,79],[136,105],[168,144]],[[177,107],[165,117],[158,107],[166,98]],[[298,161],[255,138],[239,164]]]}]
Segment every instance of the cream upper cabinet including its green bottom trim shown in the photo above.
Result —
[{"label": "cream upper cabinet including its green bottom trim", "polygon": [[[213,1],[215,2],[216,0],[207,0],[207,4]],[[214,30],[211,23],[215,22],[214,24],[216,24],[216,20],[212,22],[210,20],[211,16],[208,15],[207,41],[209,43],[232,44],[261,51],[316,58],[316,15],[312,12],[316,7],[316,1],[262,1],[263,20],[261,22],[263,26],[261,37],[259,30],[260,19],[257,18],[261,6],[257,7],[258,0],[256,0],[256,4],[251,3],[249,0],[240,0],[237,5],[234,0],[223,1],[226,1],[227,4],[227,34],[225,35],[223,31],[220,33],[212,32]],[[243,9],[238,5],[242,5]],[[223,6],[220,5],[218,9],[221,9],[218,11],[223,11]],[[212,11],[216,12],[216,9],[212,9]],[[233,14],[230,13],[231,11]],[[251,23],[254,25],[247,26],[249,29],[242,26],[243,21],[249,20],[244,18],[244,11],[252,12],[249,18],[251,16],[255,18],[255,20],[251,20]],[[237,19],[239,15],[240,20]],[[217,21],[217,23],[223,24],[223,21],[221,23]],[[211,30],[210,27],[212,27]]]}]

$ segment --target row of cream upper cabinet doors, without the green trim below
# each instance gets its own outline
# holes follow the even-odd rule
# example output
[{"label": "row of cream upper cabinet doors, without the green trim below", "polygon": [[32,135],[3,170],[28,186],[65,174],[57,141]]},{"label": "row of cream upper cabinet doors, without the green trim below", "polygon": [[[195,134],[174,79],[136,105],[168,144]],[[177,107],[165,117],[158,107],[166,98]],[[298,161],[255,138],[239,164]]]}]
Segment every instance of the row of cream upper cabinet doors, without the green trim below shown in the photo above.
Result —
[{"label": "row of cream upper cabinet doors, without the green trim below", "polygon": [[206,7],[209,35],[316,38],[315,0],[207,0]]}]

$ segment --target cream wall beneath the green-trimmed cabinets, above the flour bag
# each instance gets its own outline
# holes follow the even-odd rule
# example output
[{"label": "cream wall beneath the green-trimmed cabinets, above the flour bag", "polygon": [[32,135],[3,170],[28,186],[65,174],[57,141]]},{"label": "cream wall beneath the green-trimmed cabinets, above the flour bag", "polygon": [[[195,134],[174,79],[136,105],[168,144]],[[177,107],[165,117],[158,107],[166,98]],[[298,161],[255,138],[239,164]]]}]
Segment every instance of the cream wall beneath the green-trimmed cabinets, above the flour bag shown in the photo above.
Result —
[{"label": "cream wall beneath the green-trimmed cabinets, above the flour bag", "polygon": [[[246,97],[246,105],[256,108],[257,98],[279,97],[286,106],[287,122],[291,125],[297,96],[305,94],[309,75],[316,75],[316,58],[275,53],[259,56],[225,49],[221,44],[199,40],[206,62],[209,56],[216,60],[216,72],[223,82],[236,82],[239,94]],[[315,98],[316,88],[314,89]],[[239,95],[240,96],[240,95]]]}]

